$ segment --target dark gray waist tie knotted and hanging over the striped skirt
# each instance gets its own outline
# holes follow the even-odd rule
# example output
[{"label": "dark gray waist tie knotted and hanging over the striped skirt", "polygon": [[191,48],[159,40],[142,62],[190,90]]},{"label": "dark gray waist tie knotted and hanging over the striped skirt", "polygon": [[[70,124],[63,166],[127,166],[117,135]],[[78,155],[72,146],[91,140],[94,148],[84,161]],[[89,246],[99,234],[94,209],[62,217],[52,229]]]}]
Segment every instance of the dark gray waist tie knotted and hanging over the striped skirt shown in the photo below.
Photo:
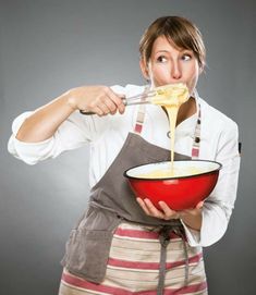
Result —
[{"label": "dark gray waist tie knotted and hanging over the striped skirt", "polygon": [[157,295],[163,295],[164,290],[164,279],[166,279],[166,263],[167,263],[167,246],[170,243],[170,233],[174,232],[182,238],[183,243],[183,251],[185,257],[185,278],[184,278],[184,285],[188,284],[188,254],[185,243],[185,235],[184,232],[180,226],[170,226],[163,225],[159,231],[159,242],[161,244],[160,250],[160,266],[159,266],[159,279],[158,279],[158,286],[157,286]]}]

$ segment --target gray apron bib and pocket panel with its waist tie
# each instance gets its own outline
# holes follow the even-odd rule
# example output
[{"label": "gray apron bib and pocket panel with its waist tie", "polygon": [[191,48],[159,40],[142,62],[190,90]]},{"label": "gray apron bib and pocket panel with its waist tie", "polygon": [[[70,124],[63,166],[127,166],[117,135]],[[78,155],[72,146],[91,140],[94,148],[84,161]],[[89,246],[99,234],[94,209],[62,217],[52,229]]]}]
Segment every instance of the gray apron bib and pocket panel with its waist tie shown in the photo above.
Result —
[{"label": "gray apron bib and pocket panel with its waist tie", "polygon": [[[131,167],[151,162],[167,161],[170,150],[146,142],[135,133],[129,133],[118,157],[100,181],[92,188],[88,209],[71,232],[62,259],[71,273],[85,280],[100,283],[106,274],[109,251],[114,230],[121,222],[129,221],[154,225],[159,231],[161,244],[158,294],[162,294],[166,272],[166,247],[170,231],[180,234],[185,241],[184,229],[180,220],[161,220],[148,217],[138,206],[123,172]],[[174,155],[175,160],[191,157]],[[125,241],[124,241],[125,243]],[[186,248],[184,242],[184,256]],[[186,268],[185,281],[187,283]]]}]

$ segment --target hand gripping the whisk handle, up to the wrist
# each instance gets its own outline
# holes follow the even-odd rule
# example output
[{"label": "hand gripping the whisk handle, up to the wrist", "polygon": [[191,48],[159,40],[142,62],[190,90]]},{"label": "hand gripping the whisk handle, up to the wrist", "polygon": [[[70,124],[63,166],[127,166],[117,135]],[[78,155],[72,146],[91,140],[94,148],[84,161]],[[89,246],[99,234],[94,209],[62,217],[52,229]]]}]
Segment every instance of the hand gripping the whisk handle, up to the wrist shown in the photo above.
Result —
[{"label": "hand gripping the whisk handle, up to the wrist", "polygon": [[124,112],[125,106],[121,95],[112,91],[107,86],[81,86],[70,89],[66,94],[69,105],[74,110],[93,112],[98,115]]}]

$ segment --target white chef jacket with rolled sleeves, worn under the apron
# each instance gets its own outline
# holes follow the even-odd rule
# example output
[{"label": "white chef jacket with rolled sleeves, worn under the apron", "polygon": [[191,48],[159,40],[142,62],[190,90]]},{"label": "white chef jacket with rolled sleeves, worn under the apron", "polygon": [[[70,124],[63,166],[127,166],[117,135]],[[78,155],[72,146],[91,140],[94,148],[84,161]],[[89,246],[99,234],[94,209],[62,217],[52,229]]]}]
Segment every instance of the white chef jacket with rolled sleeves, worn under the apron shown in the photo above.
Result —
[{"label": "white chef jacket with rolled sleeves, worn under the apron", "polygon": [[[112,86],[113,91],[126,97],[142,93],[144,86]],[[196,96],[200,105],[200,150],[199,159],[222,163],[216,188],[203,207],[200,231],[194,231],[184,223],[187,242],[191,246],[209,246],[224,234],[236,198],[240,155],[237,148],[237,125],[223,113],[210,107]],[[12,136],[8,144],[9,152],[27,164],[56,158],[61,152],[89,145],[89,185],[93,187],[105,174],[123,146],[126,135],[133,131],[138,106],[126,107],[124,114],[107,116],[82,115],[73,112],[57,130],[56,134],[40,143],[23,143],[15,135],[33,112],[24,112],[12,124]],[[198,111],[198,108],[197,108]],[[174,150],[191,156],[197,113],[184,120],[175,130]],[[168,118],[159,106],[147,105],[142,136],[149,143],[170,149]]]}]

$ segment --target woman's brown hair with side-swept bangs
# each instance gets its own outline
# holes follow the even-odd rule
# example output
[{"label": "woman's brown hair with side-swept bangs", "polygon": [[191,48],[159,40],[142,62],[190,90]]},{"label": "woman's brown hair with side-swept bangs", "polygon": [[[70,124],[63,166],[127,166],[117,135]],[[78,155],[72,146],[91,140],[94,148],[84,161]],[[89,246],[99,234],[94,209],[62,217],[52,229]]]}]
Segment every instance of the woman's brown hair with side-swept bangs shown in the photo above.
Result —
[{"label": "woman's brown hair with side-swept bangs", "polygon": [[157,19],[145,30],[139,42],[141,59],[148,63],[155,40],[164,36],[178,48],[192,50],[203,69],[205,65],[205,45],[199,29],[188,20],[181,16],[162,16]]}]

